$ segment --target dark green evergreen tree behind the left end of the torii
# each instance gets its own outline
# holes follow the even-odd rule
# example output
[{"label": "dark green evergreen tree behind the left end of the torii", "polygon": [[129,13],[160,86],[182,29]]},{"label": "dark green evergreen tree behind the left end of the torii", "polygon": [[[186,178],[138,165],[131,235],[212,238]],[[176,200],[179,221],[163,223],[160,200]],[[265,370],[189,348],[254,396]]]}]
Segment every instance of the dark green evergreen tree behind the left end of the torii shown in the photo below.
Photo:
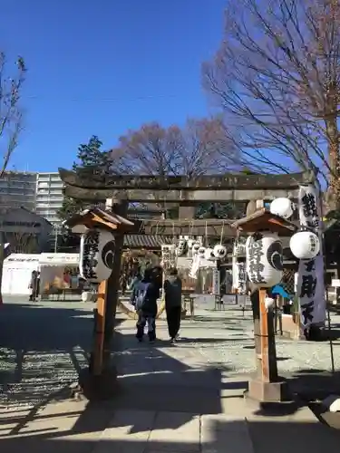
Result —
[{"label": "dark green evergreen tree behind the left end of the torii", "polygon": [[[82,176],[108,174],[112,171],[112,157],[109,151],[102,150],[102,141],[95,135],[86,144],[78,147],[77,160],[73,162],[73,170]],[[58,215],[63,220],[73,216],[85,207],[88,203],[82,200],[64,197],[63,206]]]}]

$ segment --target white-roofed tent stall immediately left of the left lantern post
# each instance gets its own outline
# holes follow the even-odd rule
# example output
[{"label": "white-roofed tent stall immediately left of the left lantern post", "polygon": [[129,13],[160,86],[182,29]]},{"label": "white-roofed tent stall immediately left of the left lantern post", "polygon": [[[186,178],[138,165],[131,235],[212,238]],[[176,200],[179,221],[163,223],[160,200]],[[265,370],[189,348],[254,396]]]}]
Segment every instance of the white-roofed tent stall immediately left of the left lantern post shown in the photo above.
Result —
[{"label": "white-roofed tent stall immediately left of the left lantern post", "polygon": [[72,279],[66,279],[67,271],[78,274],[79,254],[40,254],[40,294],[55,294],[72,287]]}]

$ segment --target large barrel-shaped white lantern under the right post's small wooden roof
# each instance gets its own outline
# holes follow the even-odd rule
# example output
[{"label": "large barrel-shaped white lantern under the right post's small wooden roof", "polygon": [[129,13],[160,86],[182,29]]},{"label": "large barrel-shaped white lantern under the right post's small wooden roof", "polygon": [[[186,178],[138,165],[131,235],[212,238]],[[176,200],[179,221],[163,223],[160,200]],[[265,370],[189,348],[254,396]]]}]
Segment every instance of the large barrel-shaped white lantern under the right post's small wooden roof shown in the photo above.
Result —
[{"label": "large barrel-shaped white lantern under the right post's small wooden roof", "polygon": [[248,236],[246,267],[249,281],[258,287],[269,288],[281,281],[283,247],[274,233],[256,233]]}]

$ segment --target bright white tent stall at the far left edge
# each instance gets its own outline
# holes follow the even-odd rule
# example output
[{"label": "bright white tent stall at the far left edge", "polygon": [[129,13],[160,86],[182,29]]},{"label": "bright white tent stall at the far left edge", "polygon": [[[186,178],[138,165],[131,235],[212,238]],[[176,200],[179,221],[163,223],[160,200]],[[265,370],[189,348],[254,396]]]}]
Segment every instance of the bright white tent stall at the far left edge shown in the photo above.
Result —
[{"label": "bright white tent stall at the far left edge", "polygon": [[39,270],[39,254],[11,254],[4,260],[2,294],[29,295],[32,272]]}]

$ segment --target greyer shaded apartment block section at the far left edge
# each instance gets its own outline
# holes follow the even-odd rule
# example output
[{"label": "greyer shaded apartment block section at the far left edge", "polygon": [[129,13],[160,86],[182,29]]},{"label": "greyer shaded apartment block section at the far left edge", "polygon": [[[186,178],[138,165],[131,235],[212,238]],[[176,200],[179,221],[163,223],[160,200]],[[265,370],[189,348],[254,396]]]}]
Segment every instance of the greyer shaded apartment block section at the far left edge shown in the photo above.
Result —
[{"label": "greyer shaded apartment block section at the far left edge", "polygon": [[7,171],[0,178],[0,209],[24,207],[35,210],[36,173]]}]

